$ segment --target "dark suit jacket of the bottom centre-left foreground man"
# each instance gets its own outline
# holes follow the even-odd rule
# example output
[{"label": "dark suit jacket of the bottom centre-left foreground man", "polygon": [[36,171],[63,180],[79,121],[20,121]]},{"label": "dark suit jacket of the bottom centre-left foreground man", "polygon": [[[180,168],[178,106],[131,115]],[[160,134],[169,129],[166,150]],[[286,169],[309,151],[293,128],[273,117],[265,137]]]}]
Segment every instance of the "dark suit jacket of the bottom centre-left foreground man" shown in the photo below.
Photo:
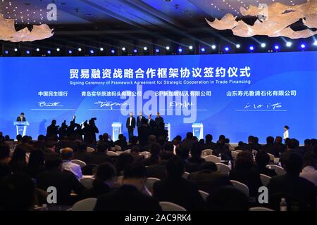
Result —
[{"label": "dark suit jacket of the bottom centre-left foreground man", "polygon": [[159,202],[139,192],[137,188],[123,185],[98,198],[94,211],[161,211]]}]

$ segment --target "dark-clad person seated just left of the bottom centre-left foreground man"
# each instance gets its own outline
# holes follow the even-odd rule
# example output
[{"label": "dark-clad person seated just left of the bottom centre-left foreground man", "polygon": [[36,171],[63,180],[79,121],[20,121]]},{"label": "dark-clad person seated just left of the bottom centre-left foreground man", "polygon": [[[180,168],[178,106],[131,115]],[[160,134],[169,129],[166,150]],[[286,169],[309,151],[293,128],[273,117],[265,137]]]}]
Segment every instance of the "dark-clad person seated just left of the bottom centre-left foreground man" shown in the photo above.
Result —
[{"label": "dark-clad person seated just left of the bottom centre-left foreground man", "polygon": [[92,183],[92,188],[82,193],[82,199],[99,198],[109,193],[116,180],[116,169],[112,164],[105,162],[97,168],[97,173]]}]

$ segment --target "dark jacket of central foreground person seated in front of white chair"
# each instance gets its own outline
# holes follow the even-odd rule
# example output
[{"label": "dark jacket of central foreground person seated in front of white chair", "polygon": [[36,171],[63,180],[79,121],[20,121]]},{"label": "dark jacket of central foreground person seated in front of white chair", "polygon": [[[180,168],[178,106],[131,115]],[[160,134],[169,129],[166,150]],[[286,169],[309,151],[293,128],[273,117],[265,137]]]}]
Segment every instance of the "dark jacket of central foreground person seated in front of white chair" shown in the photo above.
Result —
[{"label": "dark jacket of central foreground person seated in front of white chair", "polygon": [[205,203],[201,197],[197,184],[187,179],[167,178],[154,183],[154,198],[171,202],[185,207],[188,211],[204,210]]}]

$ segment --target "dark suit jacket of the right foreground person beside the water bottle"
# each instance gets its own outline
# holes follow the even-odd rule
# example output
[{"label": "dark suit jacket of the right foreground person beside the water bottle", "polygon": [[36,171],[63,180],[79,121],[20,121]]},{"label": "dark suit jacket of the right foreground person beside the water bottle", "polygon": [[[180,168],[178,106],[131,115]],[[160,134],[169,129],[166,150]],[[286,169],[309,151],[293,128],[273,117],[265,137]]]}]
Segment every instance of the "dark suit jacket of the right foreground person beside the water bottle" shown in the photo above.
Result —
[{"label": "dark suit jacket of the right foreground person beside the water bottle", "polygon": [[311,181],[299,176],[285,174],[282,176],[274,176],[268,184],[268,193],[274,195],[276,193],[285,193],[295,198],[303,200],[309,205],[310,210],[316,210],[316,189]]}]

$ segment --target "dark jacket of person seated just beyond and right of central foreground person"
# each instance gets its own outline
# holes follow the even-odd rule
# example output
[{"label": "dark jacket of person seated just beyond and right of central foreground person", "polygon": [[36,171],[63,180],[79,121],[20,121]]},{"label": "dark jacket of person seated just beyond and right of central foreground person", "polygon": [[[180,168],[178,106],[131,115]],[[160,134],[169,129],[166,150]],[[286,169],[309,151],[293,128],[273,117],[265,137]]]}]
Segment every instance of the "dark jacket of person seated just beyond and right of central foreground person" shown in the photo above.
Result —
[{"label": "dark jacket of person seated just beyond and right of central foreground person", "polygon": [[231,185],[228,176],[213,172],[210,169],[203,169],[198,172],[189,174],[189,181],[194,181],[199,190],[211,193],[211,188],[219,188],[220,186]]}]

